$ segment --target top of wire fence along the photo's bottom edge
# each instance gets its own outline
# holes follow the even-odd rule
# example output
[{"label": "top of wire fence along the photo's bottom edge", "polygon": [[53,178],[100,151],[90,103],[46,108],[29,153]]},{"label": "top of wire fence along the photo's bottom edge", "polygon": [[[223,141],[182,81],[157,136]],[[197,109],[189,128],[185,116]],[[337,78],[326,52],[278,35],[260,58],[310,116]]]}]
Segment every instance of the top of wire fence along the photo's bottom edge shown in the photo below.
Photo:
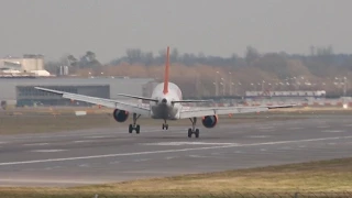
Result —
[{"label": "top of wire fence along the photo's bottom edge", "polygon": [[[85,197],[88,198],[88,197]],[[99,195],[89,198],[352,198],[352,191],[321,191],[321,193],[222,193],[222,194],[167,194],[167,195]]]}]

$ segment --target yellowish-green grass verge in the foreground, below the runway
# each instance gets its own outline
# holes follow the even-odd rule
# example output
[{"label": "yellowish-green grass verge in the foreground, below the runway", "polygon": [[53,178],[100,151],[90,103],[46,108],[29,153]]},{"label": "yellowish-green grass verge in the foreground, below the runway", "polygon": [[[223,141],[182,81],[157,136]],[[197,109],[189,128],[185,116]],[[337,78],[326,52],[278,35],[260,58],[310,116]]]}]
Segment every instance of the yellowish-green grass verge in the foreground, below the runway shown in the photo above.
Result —
[{"label": "yellowish-green grass verge in the foreground, below the runway", "polygon": [[[292,196],[314,193],[351,191],[352,158],[320,161],[282,166],[193,174],[166,178],[92,185],[70,188],[2,187],[0,195],[9,197],[210,197],[210,195],[273,195]],[[322,195],[322,194],[321,194]],[[241,197],[241,196],[240,196]]]}]

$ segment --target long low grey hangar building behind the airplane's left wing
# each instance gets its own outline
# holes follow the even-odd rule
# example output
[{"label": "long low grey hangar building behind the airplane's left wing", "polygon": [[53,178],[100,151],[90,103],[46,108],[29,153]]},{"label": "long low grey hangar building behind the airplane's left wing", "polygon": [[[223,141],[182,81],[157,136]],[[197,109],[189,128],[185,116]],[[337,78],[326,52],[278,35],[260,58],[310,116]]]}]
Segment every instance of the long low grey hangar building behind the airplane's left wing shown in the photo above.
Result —
[{"label": "long low grey hangar building behind the airplane's left wing", "polygon": [[[152,78],[14,78],[0,79],[0,100],[23,106],[92,106],[72,102],[59,96],[46,94],[34,87],[46,87],[74,94],[108,99],[131,100],[118,94],[151,96],[156,82]],[[9,102],[11,101],[11,102]]]}]

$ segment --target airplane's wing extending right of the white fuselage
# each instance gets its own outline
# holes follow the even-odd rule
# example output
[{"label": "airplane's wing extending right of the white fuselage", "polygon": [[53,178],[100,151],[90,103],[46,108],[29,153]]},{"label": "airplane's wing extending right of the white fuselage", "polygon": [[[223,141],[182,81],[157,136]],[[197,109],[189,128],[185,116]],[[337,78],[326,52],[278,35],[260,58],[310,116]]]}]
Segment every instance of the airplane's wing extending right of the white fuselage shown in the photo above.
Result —
[{"label": "airplane's wing extending right of the white fuselage", "polygon": [[249,113],[267,111],[270,109],[278,108],[293,108],[294,105],[289,106],[257,106],[257,107],[215,107],[215,108],[190,108],[182,110],[179,113],[179,119],[187,119],[194,117],[206,117],[213,114],[231,114],[231,113]]}]

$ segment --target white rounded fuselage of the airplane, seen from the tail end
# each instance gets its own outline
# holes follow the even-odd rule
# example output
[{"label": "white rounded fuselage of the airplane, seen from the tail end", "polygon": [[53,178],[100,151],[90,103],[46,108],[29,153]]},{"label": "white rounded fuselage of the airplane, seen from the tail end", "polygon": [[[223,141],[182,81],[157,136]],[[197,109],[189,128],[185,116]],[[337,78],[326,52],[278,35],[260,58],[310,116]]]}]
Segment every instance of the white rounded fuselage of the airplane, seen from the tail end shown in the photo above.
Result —
[{"label": "white rounded fuselage of the airplane, seen from the tail end", "polygon": [[151,116],[153,119],[176,120],[182,108],[180,103],[172,103],[183,99],[183,94],[179,87],[173,82],[168,82],[168,92],[164,94],[164,82],[158,84],[152,94],[153,99],[157,102],[151,101]]}]

